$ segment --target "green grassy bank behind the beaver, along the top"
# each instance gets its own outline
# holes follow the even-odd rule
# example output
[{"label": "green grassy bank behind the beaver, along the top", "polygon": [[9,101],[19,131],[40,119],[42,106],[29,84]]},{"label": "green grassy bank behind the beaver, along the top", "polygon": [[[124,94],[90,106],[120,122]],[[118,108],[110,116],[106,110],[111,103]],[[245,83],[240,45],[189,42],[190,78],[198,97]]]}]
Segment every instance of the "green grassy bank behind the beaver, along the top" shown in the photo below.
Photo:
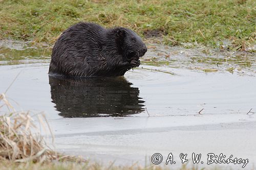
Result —
[{"label": "green grassy bank behind the beaver, along the top", "polygon": [[169,45],[220,47],[226,40],[233,50],[255,45],[254,0],[0,0],[0,4],[0,38],[52,45],[74,23],[91,21],[108,28],[127,27],[146,37],[160,34]]}]

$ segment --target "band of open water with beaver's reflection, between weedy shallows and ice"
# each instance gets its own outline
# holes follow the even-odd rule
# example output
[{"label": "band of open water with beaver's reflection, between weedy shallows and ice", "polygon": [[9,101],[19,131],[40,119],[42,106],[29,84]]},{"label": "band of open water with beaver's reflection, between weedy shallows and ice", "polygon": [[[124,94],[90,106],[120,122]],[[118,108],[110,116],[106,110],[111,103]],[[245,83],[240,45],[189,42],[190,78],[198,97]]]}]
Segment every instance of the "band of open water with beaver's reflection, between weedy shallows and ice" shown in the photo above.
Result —
[{"label": "band of open water with beaver's reflection, between weedy shallows and ice", "polygon": [[22,70],[8,96],[50,118],[189,115],[201,109],[204,114],[245,114],[256,101],[254,77],[237,74],[173,68],[178,74],[170,75],[143,65],[124,77],[65,79],[49,78],[46,63],[18,66],[0,67],[1,89]]}]

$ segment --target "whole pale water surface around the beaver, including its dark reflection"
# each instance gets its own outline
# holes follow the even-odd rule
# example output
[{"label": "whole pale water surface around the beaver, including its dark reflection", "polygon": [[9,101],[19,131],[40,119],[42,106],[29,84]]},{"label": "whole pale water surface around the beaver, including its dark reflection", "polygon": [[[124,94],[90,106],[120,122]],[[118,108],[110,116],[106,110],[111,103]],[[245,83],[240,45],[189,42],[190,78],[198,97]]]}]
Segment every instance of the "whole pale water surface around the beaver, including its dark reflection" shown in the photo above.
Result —
[{"label": "whole pale water surface around the beaver, including its dark reflection", "polygon": [[143,164],[154,152],[224,152],[251,167],[255,54],[204,50],[151,44],[124,77],[65,79],[48,76],[49,50],[1,41],[0,89],[20,72],[6,95],[16,110],[47,115],[59,151],[118,164]]}]

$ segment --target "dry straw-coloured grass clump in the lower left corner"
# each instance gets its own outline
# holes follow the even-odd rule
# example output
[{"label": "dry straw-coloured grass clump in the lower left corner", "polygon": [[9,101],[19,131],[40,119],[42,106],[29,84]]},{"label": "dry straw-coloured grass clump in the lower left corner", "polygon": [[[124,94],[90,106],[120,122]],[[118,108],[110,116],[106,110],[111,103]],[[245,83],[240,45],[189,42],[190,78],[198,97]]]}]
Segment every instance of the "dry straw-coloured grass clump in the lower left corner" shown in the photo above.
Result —
[{"label": "dry straw-coloured grass clump in the lower left corner", "polygon": [[[4,113],[4,109],[8,110],[7,114]],[[84,161],[50,149],[29,112],[16,112],[5,93],[0,94],[0,115],[0,160],[37,163],[48,163],[53,160]],[[42,129],[51,132],[45,116],[37,114],[36,117]]]}]

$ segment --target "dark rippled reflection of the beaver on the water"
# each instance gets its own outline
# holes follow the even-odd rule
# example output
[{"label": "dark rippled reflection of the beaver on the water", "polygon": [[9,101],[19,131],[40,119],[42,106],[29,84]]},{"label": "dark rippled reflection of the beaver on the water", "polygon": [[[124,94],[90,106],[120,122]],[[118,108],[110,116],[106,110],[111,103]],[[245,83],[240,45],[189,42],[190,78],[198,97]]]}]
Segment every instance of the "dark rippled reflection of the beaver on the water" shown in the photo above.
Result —
[{"label": "dark rippled reflection of the beaver on the water", "polygon": [[49,76],[52,102],[63,117],[126,116],[144,111],[139,89],[124,77]]}]

